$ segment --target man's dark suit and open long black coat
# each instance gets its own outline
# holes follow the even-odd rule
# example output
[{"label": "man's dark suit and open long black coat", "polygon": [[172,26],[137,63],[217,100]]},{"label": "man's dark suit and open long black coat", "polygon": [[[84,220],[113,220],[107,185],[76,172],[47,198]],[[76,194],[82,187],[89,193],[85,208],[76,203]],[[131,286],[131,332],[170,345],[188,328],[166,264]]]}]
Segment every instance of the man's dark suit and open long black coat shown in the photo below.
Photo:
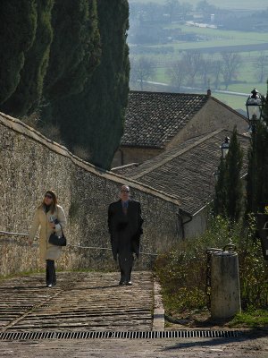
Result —
[{"label": "man's dark suit and open long black coat", "polygon": [[119,260],[121,282],[130,281],[133,265],[133,253],[138,257],[140,235],[142,234],[140,203],[129,200],[127,212],[123,212],[121,200],[110,204],[108,226],[111,235],[113,259]]}]

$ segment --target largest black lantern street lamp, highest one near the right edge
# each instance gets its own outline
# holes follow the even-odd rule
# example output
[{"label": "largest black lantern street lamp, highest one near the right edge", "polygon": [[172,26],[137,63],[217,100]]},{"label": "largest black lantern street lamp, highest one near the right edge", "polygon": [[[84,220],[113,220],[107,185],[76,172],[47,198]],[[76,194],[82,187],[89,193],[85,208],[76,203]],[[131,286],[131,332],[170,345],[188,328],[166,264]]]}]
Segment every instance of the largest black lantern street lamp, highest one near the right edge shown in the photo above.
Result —
[{"label": "largest black lantern street lamp, highest one near the right edge", "polygon": [[250,124],[250,129],[253,133],[255,133],[255,126],[257,122],[262,118],[263,106],[262,95],[256,89],[252,90],[251,95],[247,98],[246,107],[247,118]]}]

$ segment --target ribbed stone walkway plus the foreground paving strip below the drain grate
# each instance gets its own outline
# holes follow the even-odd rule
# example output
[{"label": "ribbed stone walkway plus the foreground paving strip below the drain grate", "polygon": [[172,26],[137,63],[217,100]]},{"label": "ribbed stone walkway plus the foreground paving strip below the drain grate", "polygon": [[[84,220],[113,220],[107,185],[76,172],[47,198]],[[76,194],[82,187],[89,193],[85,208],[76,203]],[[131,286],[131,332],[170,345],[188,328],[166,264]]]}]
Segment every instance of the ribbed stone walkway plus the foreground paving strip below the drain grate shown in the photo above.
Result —
[{"label": "ribbed stone walkway plus the foreground paving strip below the drain grate", "polygon": [[[150,332],[154,285],[149,272],[134,272],[133,286],[118,286],[118,273],[44,274],[0,282],[0,336],[13,332]],[[156,304],[156,307],[157,306]],[[178,328],[178,329],[181,329]],[[87,332],[86,332],[87,331]],[[267,332],[229,338],[0,339],[0,357],[268,358]]]}]

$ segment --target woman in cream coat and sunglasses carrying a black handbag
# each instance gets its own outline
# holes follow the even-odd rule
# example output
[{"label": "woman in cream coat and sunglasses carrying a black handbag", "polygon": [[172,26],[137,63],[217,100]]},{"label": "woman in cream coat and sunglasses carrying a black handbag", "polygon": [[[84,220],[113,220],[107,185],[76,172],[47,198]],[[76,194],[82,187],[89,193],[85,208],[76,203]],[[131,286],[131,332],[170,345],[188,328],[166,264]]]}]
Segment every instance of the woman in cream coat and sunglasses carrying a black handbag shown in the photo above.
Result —
[{"label": "woman in cream coat and sunglasses carrying a black handbag", "polygon": [[29,232],[29,244],[31,245],[40,227],[39,251],[40,259],[46,260],[46,286],[56,284],[54,260],[59,259],[62,252],[61,246],[48,243],[50,234],[54,232],[63,235],[62,228],[66,225],[66,217],[63,208],[57,204],[57,197],[53,191],[46,191],[41,205],[34,215]]}]

